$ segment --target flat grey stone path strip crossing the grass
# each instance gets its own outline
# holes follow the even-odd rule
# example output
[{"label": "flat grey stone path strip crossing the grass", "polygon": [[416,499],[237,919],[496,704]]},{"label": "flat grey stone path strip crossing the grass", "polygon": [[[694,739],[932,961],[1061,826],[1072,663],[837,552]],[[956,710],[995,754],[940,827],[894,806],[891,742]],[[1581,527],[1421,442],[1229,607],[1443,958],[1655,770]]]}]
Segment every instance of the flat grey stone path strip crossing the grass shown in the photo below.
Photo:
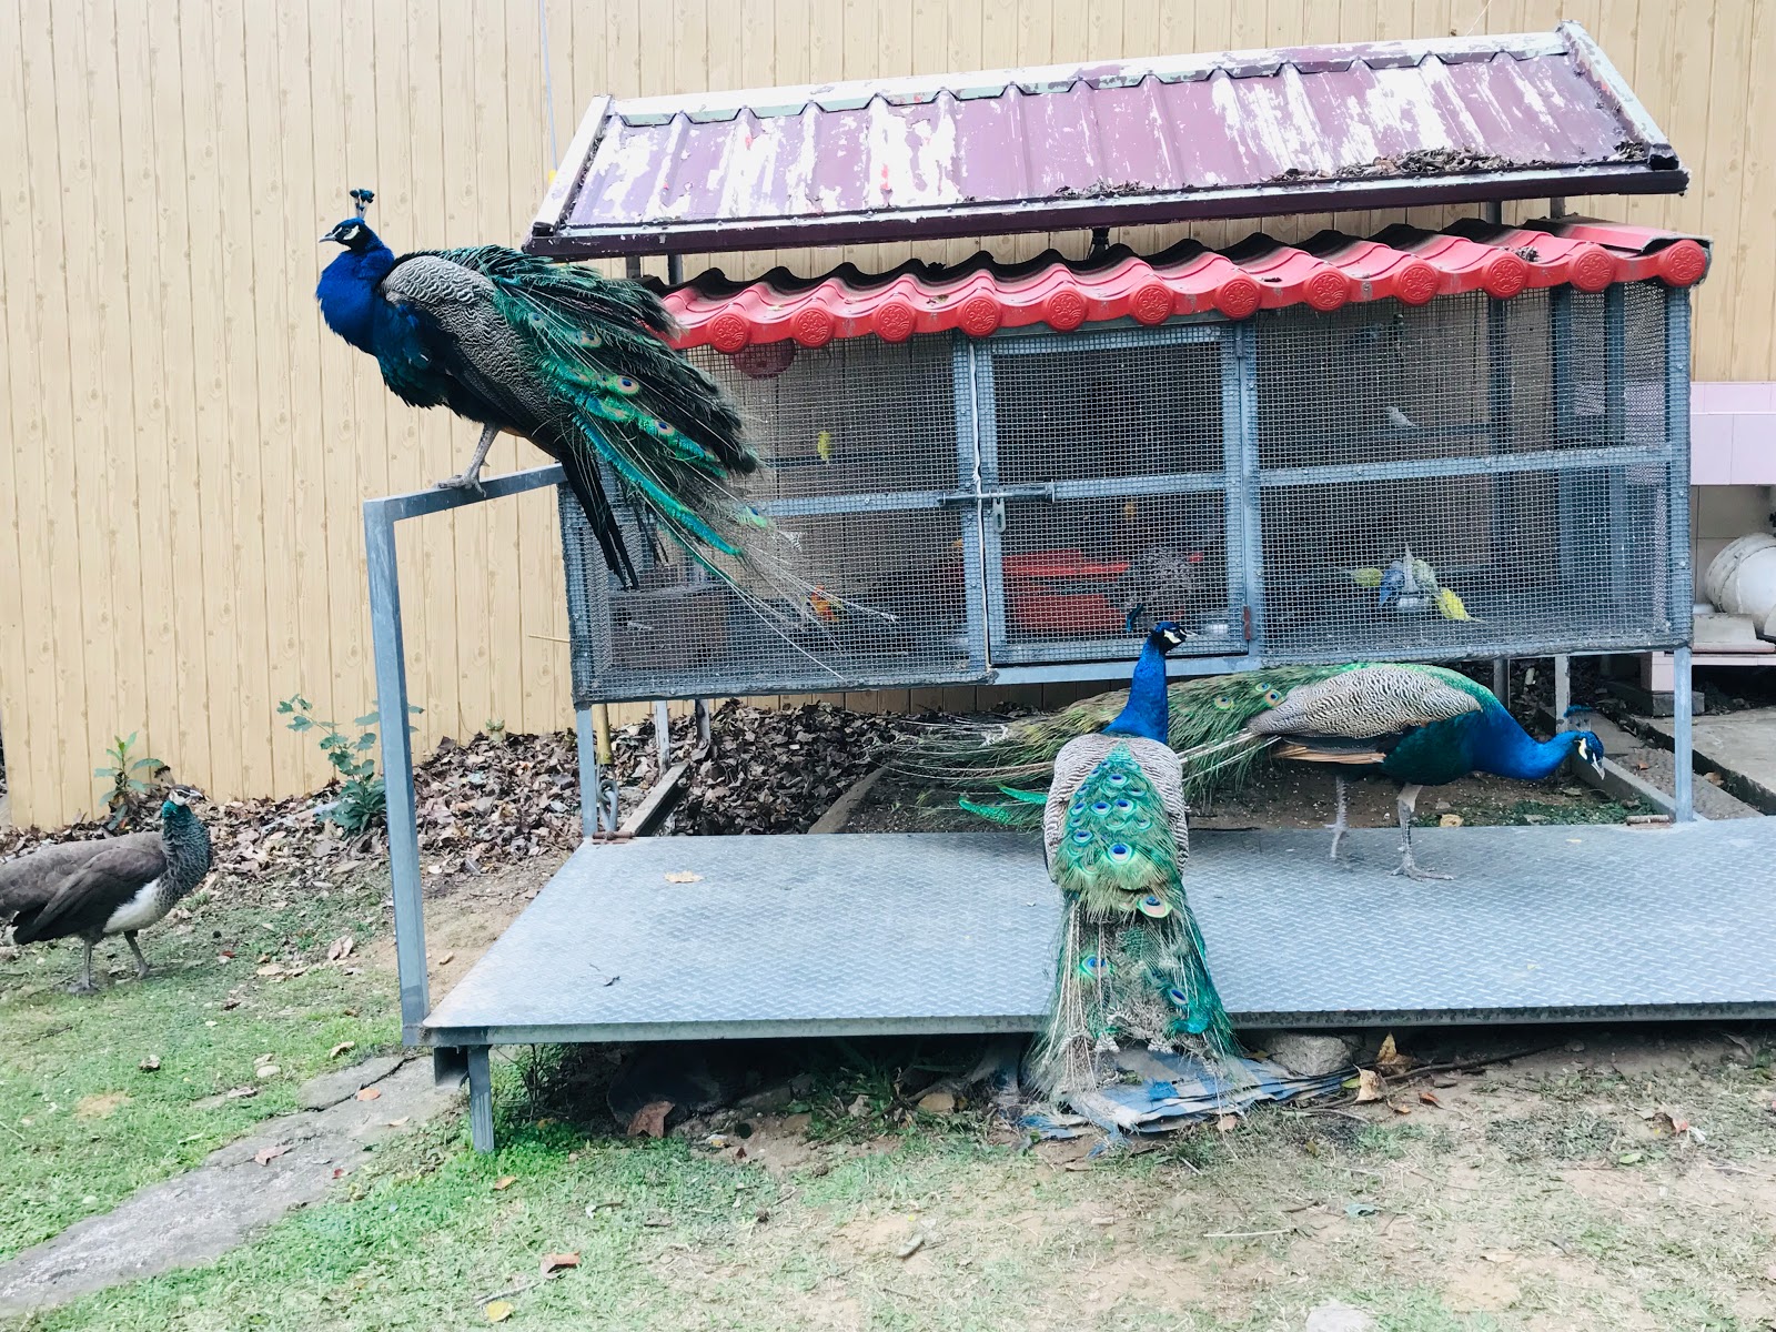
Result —
[{"label": "flat grey stone path strip crossing the grass", "polygon": [[[359,1101],[357,1089],[371,1083],[378,1096]],[[302,1103],[325,1108],[270,1119],[195,1170],[137,1190],[114,1211],[0,1265],[0,1318],[210,1263],[286,1211],[318,1202],[368,1147],[453,1101],[424,1058],[371,1060],[316,1078],[302,1089]]]}]

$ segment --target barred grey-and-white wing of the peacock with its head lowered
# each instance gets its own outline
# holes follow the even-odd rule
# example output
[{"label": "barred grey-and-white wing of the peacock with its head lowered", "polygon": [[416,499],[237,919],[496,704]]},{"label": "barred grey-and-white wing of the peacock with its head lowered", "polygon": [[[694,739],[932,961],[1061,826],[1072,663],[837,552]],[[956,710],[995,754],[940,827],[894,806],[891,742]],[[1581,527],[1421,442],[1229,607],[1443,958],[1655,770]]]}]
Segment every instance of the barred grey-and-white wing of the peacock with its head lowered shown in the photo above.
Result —
[{"label": "barred grey-and-white wing of the peacock with its head lowered", "polygon": [[1446,675],[1403,662],[1355,666],[1288,689],[1272,709],[1247,721],[1247,728],[1256,735],[1368,741],[1479,712],[1479,696]]}]

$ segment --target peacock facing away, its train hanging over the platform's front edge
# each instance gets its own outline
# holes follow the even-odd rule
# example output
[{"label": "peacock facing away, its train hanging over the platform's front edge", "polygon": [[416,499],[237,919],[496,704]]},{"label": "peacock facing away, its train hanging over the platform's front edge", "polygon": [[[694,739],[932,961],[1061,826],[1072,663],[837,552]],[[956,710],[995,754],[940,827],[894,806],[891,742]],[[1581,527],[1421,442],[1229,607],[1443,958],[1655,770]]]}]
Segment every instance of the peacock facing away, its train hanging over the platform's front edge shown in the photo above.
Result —
[{"label": "peacock facing away, its train hanging over the platform's front edge", "polygon": [[[1048,1027],[1032,1055],[1032,1082],[1048,1096],[1078,1098],[1112,1082],[1112,1057],[1131,1039],[1238,1067],[1181,876],[1190,826],[1177,755],[1165,742],[1165,654],[1183,641],[1177,625],[1154,625],[1122,710],[1058,748],[1046,796],[1012,799],[1019,815],[1039,810],[1048,872],[1066,897]],[[964,806],[1030,822],[1000,806]]]}]

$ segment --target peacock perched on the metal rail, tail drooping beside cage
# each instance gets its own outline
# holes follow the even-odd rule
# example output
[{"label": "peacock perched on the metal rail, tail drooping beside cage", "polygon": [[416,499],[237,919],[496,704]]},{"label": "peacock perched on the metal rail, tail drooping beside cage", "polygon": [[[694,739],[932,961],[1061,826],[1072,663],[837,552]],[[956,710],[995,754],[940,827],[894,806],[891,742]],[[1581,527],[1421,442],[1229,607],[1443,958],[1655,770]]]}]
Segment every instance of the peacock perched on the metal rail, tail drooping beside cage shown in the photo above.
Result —
[{"label": "peacock perched on the metal rail, tail drooping beside cage", "polygon": [[[652,291],[504,245],[396,258],[364,222],[373,197],[352,190],[355,215],[321,236],[345,252],[314,295],[327,327],[373,355],[396,396],[481,426],[469,465],[440,485],[478,487],[494,439],[520,435],[561,464],[623,586],[639,583],[604,469],[748,604],[808,618],[812,588],[776,551],[794,536],[728,487],[758,469],[741,414],[666,343],[673,321]],[[753,591],[748,572],[776,600]]]}]

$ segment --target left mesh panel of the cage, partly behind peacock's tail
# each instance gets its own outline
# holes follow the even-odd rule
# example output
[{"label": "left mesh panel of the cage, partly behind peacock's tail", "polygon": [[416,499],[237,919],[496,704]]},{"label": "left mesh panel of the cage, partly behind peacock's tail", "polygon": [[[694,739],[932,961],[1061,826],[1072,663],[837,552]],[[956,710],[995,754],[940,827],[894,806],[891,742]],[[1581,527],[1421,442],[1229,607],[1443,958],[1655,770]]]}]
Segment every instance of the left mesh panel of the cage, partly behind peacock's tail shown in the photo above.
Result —
[{"label": "left mesh panel of the cage, partly behind peacock's tail", "polygon": [[[677,549],[659,559],[627,513],[641,588],[625,591],[563,494],[575,702],[980,675],[968,638],[950,341],[781,343],[693,359],[748,417],[762,465],[735,490],[789,535],[780,552],[824,593],[893,620],[831,614],[819,599],[817,616],[771,623]],[[609,478],[607,488],[618,494]]]}]

